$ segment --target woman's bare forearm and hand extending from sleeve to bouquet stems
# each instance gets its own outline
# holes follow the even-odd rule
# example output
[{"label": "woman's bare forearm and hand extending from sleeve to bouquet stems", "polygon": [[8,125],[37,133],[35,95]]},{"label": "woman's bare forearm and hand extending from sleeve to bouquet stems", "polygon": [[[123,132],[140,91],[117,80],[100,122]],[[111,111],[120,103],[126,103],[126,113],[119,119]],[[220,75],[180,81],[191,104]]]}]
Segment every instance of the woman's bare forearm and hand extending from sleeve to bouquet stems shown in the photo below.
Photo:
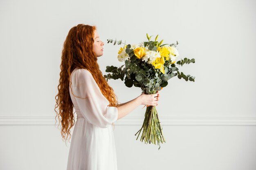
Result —
[{"label": "woman's bare forearm and hand extending from sleeve to bouquet stems", "polygon": [[117,107],[118,111],[118,119],[125,117],[130,113],[132,110],[137,108],[139,105],[149,105],[149,106],[157,106],[157,101],[159,99],[159,91],[152,95],[141,94],[140,96],[136,97],[135,99],[130,100],[129,102],[123,103]]}]

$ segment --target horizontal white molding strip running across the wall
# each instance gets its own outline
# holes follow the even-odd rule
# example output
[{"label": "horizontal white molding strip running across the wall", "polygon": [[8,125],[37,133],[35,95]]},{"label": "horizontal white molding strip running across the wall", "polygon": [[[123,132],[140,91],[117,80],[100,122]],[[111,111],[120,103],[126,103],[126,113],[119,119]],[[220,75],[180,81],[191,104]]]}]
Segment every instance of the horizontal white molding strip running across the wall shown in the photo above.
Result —
[{"label": "horizontal white molding strip running across the wall", "polygon": [[[161,125],[256,126],[256,117],[159,117]],[[144,117],[123,117],[115,125],[142,125]],[[0,116],[0,125],[55,125],[54,116]],[[58,125],[58,123],[56,123]]]}]

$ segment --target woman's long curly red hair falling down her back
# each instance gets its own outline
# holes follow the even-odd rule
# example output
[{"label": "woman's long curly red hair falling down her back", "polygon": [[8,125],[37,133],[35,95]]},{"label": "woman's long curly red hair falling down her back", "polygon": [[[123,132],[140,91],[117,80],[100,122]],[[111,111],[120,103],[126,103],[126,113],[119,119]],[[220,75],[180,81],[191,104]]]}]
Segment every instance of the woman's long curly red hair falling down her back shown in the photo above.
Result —
[{"label": "woman's long curly red hair falling down her back", "polygon": [[55,96],[56,104],[54,108],[59,121],[58,125],[61,123],[61,136],[63,141],[67,141],[67,139],[71,138],[70,129],[75,124],[75,112],[73,113],[74,105],[70,97],[69,88],[70,84],[72,84],[70,75],[76,67],[86,68],[92,73],[92,77],[95,82],[97,82],[101,93],[110,102],[109,106],[119,106],[117,96],[100,71],[97,56],[92,50],[94,44],[94,30],[96,30],[96,26],[78,24],[70,29],[63,45],[60,65],[61,72],[57,87],[58,94]]}]

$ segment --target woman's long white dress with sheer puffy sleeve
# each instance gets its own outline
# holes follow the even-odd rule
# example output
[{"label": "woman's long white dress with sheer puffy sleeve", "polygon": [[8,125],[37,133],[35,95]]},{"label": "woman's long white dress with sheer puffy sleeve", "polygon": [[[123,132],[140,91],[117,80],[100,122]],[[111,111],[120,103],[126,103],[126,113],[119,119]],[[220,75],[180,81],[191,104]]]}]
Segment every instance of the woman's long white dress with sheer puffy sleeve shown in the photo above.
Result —
[{"label": "woman's long white dress with sheer puffy sleeve", "polygon": [[77,114],[71,138],[67,170],[117,170],[112,122],[117,107],[108,106],[92,74],[75,68],[71,74],[70,96]]}]

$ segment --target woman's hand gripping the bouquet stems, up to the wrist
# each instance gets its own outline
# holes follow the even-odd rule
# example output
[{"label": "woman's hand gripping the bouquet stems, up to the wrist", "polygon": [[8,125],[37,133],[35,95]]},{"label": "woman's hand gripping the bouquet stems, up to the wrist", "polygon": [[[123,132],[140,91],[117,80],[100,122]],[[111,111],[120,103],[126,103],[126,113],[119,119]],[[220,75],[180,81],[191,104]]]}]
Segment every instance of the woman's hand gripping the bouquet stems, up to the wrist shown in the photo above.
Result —
[{"label": "woman's hand gripping the bouquet stems, up to the wrist", "polygon": [[141,95],[139,96],[140,102],[143,105],[147,105],[147,106],[157,106],[157,102],[159,100],[159,91],[157,91],[157,93],[152,94],[152,95],[146,95],[144,94],[144,92],[141,93]]}]

